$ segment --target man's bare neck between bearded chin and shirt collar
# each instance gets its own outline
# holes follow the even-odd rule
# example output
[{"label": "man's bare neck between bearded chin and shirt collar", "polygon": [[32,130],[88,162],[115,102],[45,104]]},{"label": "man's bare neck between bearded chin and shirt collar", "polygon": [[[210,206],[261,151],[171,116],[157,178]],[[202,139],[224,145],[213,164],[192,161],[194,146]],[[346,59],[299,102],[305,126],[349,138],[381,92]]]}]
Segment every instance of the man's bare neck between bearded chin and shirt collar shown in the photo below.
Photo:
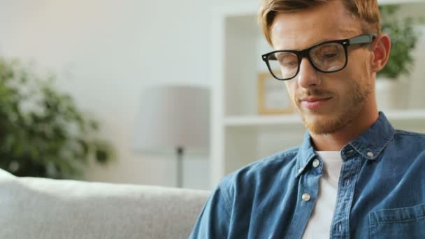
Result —
[{"label": "man's bare neck between bearded chin and shirt collar", "polygon": [[312,144],[316,151],[340,151],[350,140],[353,140],[366,131],[379,117],[375,110],[363,112],[359,117],[355,117],[342,129],[328,134],[315,134],[310,132]]}]

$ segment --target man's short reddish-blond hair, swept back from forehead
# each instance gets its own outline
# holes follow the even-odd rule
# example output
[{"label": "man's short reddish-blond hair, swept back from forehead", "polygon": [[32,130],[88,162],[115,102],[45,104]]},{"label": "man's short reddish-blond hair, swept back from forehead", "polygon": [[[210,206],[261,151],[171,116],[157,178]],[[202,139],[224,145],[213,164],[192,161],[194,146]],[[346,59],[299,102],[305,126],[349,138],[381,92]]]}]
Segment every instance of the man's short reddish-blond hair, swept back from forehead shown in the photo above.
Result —
[{"label": "man's short reddish-blond hair, swept back from forehead", "polygon": [[261,0],[258,21],[266,40],[271,43],[271,24],[278,13],[295,13],[301,10],[324,6],[331,1],[343,1],[348,13],[361,23],[364,34],[380,34],[380,10],[377,0]]}]

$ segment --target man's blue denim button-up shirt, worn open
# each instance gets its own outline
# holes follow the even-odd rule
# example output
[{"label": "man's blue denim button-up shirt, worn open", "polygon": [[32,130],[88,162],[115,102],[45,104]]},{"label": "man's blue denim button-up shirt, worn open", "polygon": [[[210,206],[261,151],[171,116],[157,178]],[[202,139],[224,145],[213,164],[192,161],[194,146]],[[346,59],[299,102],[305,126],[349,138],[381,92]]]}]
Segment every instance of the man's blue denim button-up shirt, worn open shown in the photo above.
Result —
[{"label": "man's blue denim button-up shirt, worn open", "polygon": [[[331,238],[425,238],[424,134],[395,130],[380,113],[341,156]],[[301,146],[222,179],[190,238],[301,238],[322,169],[307,132]]]}]

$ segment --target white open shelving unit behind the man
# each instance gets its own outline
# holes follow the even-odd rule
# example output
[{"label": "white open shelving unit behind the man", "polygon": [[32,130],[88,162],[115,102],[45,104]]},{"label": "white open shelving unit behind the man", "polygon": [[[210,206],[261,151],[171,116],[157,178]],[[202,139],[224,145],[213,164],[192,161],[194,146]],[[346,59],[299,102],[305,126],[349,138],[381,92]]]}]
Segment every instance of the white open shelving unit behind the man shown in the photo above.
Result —
[{"label": "white open shelving unit behind the man", "polygon": [[[425,0],[378,3],[403,4],[413,15],[425,10]],[[305,133],[298,115],[257,114],[257,73],[267,71],[260,56],[272,50],[257,24],[258,8],[251,2],[213,10],[211,188],[237,168],[301,144]],[[398,129],[425,132],[425,108],[386,115]]]}]

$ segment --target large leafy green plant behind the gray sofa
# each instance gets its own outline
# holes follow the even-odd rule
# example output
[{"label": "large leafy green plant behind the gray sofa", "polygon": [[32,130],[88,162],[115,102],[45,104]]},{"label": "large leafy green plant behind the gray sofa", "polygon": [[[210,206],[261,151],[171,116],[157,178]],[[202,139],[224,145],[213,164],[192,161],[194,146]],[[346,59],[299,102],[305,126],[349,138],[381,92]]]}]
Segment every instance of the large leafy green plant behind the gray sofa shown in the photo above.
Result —
[{"label": "large leafy green plant behind the gray sofa", "polygon": [[29,64],[0,57],[0,168],[17,176],[81,178],[90,160],[106,164],[114,148],[96,137],[99,123],[55,75],[39,76]]}]

